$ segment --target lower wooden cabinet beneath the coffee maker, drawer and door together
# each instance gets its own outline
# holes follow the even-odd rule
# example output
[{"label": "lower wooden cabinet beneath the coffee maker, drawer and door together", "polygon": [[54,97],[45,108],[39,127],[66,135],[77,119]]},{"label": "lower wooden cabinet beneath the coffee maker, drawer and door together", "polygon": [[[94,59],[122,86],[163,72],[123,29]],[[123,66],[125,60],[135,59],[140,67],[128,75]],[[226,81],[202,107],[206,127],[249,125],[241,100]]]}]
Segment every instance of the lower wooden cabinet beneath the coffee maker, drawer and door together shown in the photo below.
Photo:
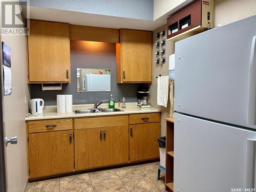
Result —
[{"label": "lower wooden cabinet beneath the coffee maker, drawer and door together", "polygon": [[159,158],[158,137],[159,113],[130,115],[130,161]]}]

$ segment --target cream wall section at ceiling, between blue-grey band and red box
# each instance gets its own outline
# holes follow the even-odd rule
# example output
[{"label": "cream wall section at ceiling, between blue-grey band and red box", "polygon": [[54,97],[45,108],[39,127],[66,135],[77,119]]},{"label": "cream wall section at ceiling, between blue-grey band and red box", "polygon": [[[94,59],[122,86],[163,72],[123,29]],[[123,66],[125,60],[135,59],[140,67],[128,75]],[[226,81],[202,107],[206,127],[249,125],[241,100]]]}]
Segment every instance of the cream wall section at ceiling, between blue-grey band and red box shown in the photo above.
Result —
[{"label": "cream wall section at ceiling, between blue-grey band and red box", "polygon": [[174,9],[186,0],[154,0],[154,20]]}]

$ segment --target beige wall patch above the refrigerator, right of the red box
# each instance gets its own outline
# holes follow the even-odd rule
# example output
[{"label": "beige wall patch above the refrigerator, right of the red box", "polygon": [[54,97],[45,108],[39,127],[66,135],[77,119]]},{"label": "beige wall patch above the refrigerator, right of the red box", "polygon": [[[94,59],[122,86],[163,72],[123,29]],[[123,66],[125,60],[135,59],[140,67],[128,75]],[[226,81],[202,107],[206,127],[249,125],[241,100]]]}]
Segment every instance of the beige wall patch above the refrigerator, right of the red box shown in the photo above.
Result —
[{"label": "beige wall patch above the refrigerator, right of the red box", "polygon": [[215,0],[214,25],[224,25],[254,14],[256,0]]}]

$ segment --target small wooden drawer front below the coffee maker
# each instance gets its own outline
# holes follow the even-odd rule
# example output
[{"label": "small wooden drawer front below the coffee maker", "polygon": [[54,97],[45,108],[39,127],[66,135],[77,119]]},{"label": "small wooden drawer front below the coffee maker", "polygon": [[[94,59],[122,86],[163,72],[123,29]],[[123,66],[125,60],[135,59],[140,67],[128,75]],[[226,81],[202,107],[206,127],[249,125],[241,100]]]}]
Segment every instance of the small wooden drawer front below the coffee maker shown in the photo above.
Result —
[{"label": "small wooden drawer front below the coffee maker", "polygon": [[160,122],[160,113],[130,115],[130,124]]}]

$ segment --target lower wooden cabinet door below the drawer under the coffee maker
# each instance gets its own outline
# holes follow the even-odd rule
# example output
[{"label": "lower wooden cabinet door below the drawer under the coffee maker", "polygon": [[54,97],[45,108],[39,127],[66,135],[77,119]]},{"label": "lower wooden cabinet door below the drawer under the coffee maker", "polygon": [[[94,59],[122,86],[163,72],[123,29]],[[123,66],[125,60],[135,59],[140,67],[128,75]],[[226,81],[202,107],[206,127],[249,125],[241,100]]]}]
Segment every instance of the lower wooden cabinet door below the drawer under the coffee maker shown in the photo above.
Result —
[{"label": "lower wooden cabinet door below the drawer under the coffee maker", "polygon": [[130,125],[130,161],[159,157],[160,123]]}]

